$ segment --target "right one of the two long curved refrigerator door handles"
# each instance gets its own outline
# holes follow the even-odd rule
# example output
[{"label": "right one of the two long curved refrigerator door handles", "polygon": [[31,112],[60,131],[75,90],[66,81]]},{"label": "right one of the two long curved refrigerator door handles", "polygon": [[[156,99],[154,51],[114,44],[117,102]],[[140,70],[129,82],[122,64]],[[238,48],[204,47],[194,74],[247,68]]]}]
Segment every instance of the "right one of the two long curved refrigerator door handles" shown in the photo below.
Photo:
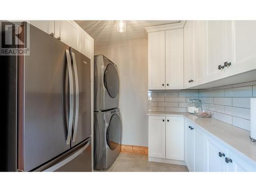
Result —
[{"label": "right one of the two long curved refrigerator door handles", "polygon": [[73,132],[73,139],[74,142],[76,140],[76,132],[77,132],[77,123],[78,123],[78,111],[79,111],[79,87],[78,87],[78,73],[77,73],[77,65],[76,65],[76,56],[75,53],[71,52],[73,67],[74,67],[74,74],[75,74],[75,94],[76,94],[76,101],[75,101],[75,119],[74,119],[74,132]]}]

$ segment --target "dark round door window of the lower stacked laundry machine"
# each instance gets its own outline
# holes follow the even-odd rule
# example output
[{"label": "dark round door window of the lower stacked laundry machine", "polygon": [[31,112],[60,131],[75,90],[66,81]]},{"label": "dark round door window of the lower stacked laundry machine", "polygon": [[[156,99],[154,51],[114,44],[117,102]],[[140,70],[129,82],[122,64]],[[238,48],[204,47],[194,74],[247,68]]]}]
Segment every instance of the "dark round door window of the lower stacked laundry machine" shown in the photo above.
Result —
[{"label": "dark round door window of the lower stacked laundry machine", "polygon": [[117,114],[112,115],[108,130],[106,131],[106,141],[108,142],[111,150],[115,150],[115,148],[120,144],[122,131],[121,126],[119,116]]}]

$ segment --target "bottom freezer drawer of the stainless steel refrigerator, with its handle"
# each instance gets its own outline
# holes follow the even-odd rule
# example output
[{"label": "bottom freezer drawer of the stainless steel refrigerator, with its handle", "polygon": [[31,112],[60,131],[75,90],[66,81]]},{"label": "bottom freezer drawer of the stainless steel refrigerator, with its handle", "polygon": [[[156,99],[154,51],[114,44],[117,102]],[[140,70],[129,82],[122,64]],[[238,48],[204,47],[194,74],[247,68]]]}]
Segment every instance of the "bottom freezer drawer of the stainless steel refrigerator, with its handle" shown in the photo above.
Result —
[{"label": "bottom freezer drawer of the stainless steel refrigerator, with its handle", "polygon": [[92,144],[91,138],[77,145],[71,151],[52,162],[36,169],[44,172],[91,172]]}]

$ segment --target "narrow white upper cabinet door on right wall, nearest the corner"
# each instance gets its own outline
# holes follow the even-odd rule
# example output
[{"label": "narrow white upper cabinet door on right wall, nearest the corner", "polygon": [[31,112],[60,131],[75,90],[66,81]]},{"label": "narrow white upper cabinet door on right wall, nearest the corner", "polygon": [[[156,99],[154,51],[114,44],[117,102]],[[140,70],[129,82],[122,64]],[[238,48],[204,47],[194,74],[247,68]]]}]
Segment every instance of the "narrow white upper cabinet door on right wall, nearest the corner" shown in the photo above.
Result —
[{"label": "narrow white upper cabinet door on right wall, nearest the corner", "polygon": [[191,87],[194,79],[194,21],[188,20],[184,26],[184,88]]}]

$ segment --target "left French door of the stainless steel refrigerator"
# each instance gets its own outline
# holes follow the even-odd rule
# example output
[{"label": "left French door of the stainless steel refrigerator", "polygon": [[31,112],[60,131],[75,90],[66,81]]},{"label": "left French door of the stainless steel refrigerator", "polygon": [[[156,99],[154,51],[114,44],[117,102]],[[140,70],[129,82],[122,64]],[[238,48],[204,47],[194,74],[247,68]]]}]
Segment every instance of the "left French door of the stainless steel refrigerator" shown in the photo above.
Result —
[{"label": "left French door of the stainless steel refrigerator", "polygon": [[67,136],[70,124],[72,129],[69,119],[73,119],[73,77],[69,78],[71,60],[66,54],[69,46],[29,27],[30,55],[19,57],[18,82],[18,169],[24,171],[70,149]]}]

